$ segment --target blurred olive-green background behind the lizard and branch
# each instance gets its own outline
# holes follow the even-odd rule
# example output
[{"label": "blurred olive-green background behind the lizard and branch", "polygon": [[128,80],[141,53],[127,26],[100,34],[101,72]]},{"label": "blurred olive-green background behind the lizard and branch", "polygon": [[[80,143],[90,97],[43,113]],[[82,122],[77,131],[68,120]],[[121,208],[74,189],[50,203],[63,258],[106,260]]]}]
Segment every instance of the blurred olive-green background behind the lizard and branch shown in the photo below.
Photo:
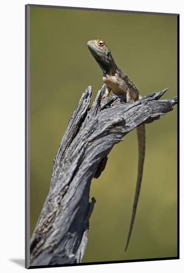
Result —
[{"label": "blurred olive-green background behind the lizard and branch", "polygon": [[[30,8],[31,234],[49,191],[53,159],[82,92],[94,100],[102,71],[87,41],[103,39],[117,65],[145,95],[170,87],[177,94],[177,16]],[[137,176],[136,131],[114,146],[105,171],[93,179],[82,262],[177,256],[177,107],[146,125],[142,189],[129,247],[124,252]]]}]

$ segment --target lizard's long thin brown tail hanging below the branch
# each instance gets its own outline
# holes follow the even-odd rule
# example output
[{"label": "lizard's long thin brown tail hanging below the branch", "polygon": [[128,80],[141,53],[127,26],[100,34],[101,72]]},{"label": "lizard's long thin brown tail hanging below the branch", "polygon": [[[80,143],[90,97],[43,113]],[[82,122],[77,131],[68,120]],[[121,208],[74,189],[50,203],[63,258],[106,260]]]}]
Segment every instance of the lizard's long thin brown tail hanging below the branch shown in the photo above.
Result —
[{"label": "lizard's long thin brown tail hanging below the branch", "polygon": [[144,156],[145,156],[145,136],[146,136],[146,134],[145,134],[145,125],[142,124],[142,125],[137,127],[137,139],[138,139],[138,151],[139,151],[138,175],[137,175],[137,184],[136,184],[136,189],[135,189],[135,196],[134,196],[134,202],[133,202],[133,208],[132,208],[128,238],[127,238],[126,247],[125,247],[124,251],[126,251],[126,249],[128,247],[131,232],[132,232],[132,229],[133,229],[133,223],[134,223],[134,219],[135,219],[138,199],[139,199],[141,180],[142,180],[142,173],[143,173]]}]

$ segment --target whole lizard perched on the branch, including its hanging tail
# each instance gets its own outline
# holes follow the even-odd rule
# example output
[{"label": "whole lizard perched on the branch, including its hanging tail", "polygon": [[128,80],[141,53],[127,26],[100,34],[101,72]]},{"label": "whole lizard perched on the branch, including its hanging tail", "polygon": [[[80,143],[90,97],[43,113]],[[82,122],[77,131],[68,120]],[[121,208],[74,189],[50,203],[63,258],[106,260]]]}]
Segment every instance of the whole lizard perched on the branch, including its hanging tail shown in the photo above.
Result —
[{"label": "whole lizard perched on the branch, including its hanging tail", "polygon": [[[100,68],[103,71],[103,81],[106,83],[106,90],[104,92],[103,98],[109,95],[109,92],[112,90],[116,95],[126,95],[126,102],[130,100],[138,100],[141,98],[139,92],[131,79],[120,69],[111,54],[111,51],[106,46],[106,43],[103,40],[90,40],[87,43],[88,48],[99,64]],[[128,238],[126,242],[125,251],[128,247],[129,239],[133,229],[133,223],[135,219],[135,213],[140,193],[142,173],[143,173],[143,164],[145,156],[145,125],[142,124],[137,128],[137,138],[138,138],[138,175],[137,175],[137,184],[135,189],[135,197],[133,202],[132,214],[130,227],[128,232]]]}]

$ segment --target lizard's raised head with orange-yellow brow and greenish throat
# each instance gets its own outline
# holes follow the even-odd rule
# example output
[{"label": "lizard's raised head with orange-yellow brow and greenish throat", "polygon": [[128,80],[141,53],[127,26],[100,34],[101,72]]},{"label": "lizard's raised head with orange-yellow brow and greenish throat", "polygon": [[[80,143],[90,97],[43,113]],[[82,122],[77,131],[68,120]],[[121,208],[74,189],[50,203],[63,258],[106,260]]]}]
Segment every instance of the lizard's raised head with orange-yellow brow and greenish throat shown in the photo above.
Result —
[{"label": "lizard's raised head with orange-yellow brow and greenish throat", "polygon": [[108,73],[114,60],[106,43],[103,40],[90,40],[87,42],[87,46],[103,72]]}]

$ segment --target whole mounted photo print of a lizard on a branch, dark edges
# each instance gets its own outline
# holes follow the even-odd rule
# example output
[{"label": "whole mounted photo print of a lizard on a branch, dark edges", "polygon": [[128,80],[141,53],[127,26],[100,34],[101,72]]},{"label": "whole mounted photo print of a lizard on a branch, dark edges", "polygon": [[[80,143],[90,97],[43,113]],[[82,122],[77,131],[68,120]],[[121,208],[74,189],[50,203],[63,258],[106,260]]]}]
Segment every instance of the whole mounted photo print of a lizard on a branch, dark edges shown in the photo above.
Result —
[{"label": "whole mounted photo print of a lizard on a branch, dark edges", "polygon": [[179,259],[178,29],[26,5],[26,268]]}]

